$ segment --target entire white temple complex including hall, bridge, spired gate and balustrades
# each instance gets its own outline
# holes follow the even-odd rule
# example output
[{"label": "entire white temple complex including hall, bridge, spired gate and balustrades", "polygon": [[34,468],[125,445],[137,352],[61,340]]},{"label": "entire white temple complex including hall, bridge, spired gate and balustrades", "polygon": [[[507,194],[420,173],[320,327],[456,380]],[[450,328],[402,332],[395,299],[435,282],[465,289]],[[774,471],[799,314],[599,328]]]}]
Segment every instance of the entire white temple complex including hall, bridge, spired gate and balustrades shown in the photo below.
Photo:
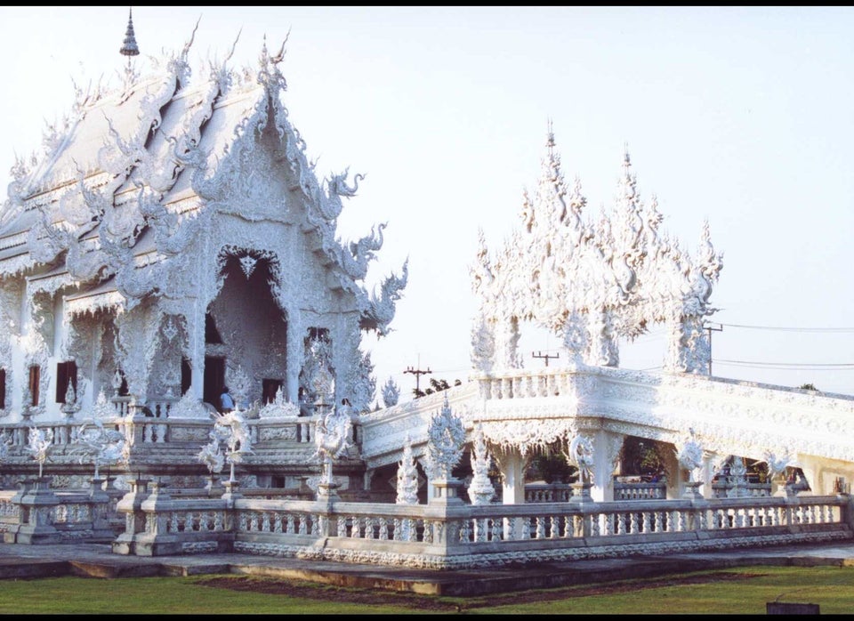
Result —
[{"label": "entire white temple complex including hall, bridge, spired gate and balustrades", "polygon": [[[44,155],[13,170],[0,212],[7,542],[68,540],[55,510],[36,524],[26,508],[103,495],[125,496],[76,536],[118,553],[441,569],[608,555],[647,532],[646,552],[850,536],[854,398],[708,375],[722,268],[708,223],[696,253],[668,237],[627,153],[614,209],[591,218],[551,128],[518,228],[491,250],[472,240],[468,382],[398,402],[390,380],[370,411],[361,337],[387,334],[407,264],[368,291],[384,225],[336,236],[361,176],[318,180],[284,104],[284,44],[264,43],[257,69],[229,55],[191,71],[192,42],[144,76],[128,64],[114,90],[78,92]],[[129,21],[123,53],[135,49]],[[662,323],[664,374],[619,368],[618,343]],[[561,366],[523,367],[525,326],[560,337]],[[226,385],[237,410],[222,416]],[[654,479],[641,477],[650,447]],[[563,456],[575,480],[538,480],[537,456]],[[499,541],[519,545],[486,545]]]}]

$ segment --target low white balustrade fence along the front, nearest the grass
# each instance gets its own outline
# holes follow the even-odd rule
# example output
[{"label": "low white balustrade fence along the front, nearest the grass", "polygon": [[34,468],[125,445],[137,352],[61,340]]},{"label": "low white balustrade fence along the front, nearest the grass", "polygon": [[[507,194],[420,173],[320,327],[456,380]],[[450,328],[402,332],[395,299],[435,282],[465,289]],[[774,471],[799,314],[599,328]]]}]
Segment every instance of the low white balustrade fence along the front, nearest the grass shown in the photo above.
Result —
[{"label": "low white balustrade fence along the front, nearest the grass", "polygon": [[[229,496],[229,495],[226,495]],[[245,552],[425,569],[850,540],[849,496],[373,504],[125,496],[114,552]],[[321,544],[322,542],[322,544]]]}]

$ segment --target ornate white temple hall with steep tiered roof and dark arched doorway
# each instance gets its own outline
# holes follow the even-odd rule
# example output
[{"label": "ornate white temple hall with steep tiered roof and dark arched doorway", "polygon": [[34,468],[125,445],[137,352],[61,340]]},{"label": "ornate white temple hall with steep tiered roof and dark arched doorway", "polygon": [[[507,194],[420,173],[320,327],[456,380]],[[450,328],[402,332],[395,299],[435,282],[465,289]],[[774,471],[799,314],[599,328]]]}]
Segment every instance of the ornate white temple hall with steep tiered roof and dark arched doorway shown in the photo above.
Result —
[{"label": "ornate white temple hall with steep tiered roof and dark arched doorway", "polygon": [[[282,51],[260,69],[181,53],[80,92],[43,157],[15,167],[0,228],[4,423],[61,420],[125,398],[205,417],[228,385],[244,409],[375,391],[359,349],[388,330],[407,266],[364,281],[383,227],[336,237],[360,175],[318,180],[282,102]],[[123,406],[125,407],[125,406]]]}]

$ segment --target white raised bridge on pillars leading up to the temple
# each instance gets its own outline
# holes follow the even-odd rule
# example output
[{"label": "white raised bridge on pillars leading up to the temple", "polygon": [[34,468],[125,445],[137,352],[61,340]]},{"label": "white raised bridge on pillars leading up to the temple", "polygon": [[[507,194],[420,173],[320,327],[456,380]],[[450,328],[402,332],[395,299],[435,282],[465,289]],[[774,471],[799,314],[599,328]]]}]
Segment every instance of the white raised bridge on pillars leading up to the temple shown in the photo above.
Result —
[{"label": "white raised bridge on pillars leading up to the temple", "polygon": [[[423,456],[431,417],[446,398],[470,437],[480,423],[495,448],[505,502],[521,502],[525,456],[577,434],[593,440],[592,493],[600,500],[613,498],[612,472],[627,436],[673,444],[675,454],[689,429],[704,448],[705,496],[711,494],[714,464],[727,456],[789,456],[817,494],[833,492],[840,478],[854,478],[854,397],[613,367],[475,377],[463,386],[363,415],[361,455],[367,468],[398,463],[407,434],[414,455]],[[671,465],[678,466],[675,456]],[[673,496],[680,494],[681,488],[673,488]]]}]

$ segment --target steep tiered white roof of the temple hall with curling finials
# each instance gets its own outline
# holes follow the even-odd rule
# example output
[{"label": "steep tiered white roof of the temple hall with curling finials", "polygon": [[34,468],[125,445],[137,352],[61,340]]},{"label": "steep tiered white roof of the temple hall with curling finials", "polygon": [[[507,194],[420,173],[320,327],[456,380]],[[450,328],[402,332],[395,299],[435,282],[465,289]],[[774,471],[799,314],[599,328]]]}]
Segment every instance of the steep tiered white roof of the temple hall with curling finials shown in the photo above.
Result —
[{"label": "steep tiered white roof of the temple hall with curling finials", "polygon": [[[85,290],[133,262],[131,256],[160,260],[180,252],[168,240],[205,205],[227,202],[223,180],[238,171],[251,176],[241,157],[267,131],[278,134],[269,142],[276,160],[286,160],[276,174],[301,197],[296,200],[302,209],[278,209],[314,236],[310,246],[326,254],[322,263],[332,266],[338,286],[359,298],[362,326],[383,332],[388,310],[377,310],[377,304],[387,306],[382,301],[390,295],[396,299],[406,278],[392,275],[382,298],[355,283],[365,278],[367,262],[382,245],[382,226],[358,243],[335,237],[341,198],[355,194],[360,175],[352,187],[346,172],[316,178],[281,101],[284,44],[271,55],[265,42],[258,69],[229,69],[229,56],[209,61],[195,76],[187,62],[191,44],[192,37],[180,53],[153,59],[145,76],[128,64],[117,88],[78,91],[63,123],[47,129],[44,155],[18,161],[0,212],[0,279],[50,268],[64,257],[72,280]],[[118,290],[131,296],[120,280]]]}]

